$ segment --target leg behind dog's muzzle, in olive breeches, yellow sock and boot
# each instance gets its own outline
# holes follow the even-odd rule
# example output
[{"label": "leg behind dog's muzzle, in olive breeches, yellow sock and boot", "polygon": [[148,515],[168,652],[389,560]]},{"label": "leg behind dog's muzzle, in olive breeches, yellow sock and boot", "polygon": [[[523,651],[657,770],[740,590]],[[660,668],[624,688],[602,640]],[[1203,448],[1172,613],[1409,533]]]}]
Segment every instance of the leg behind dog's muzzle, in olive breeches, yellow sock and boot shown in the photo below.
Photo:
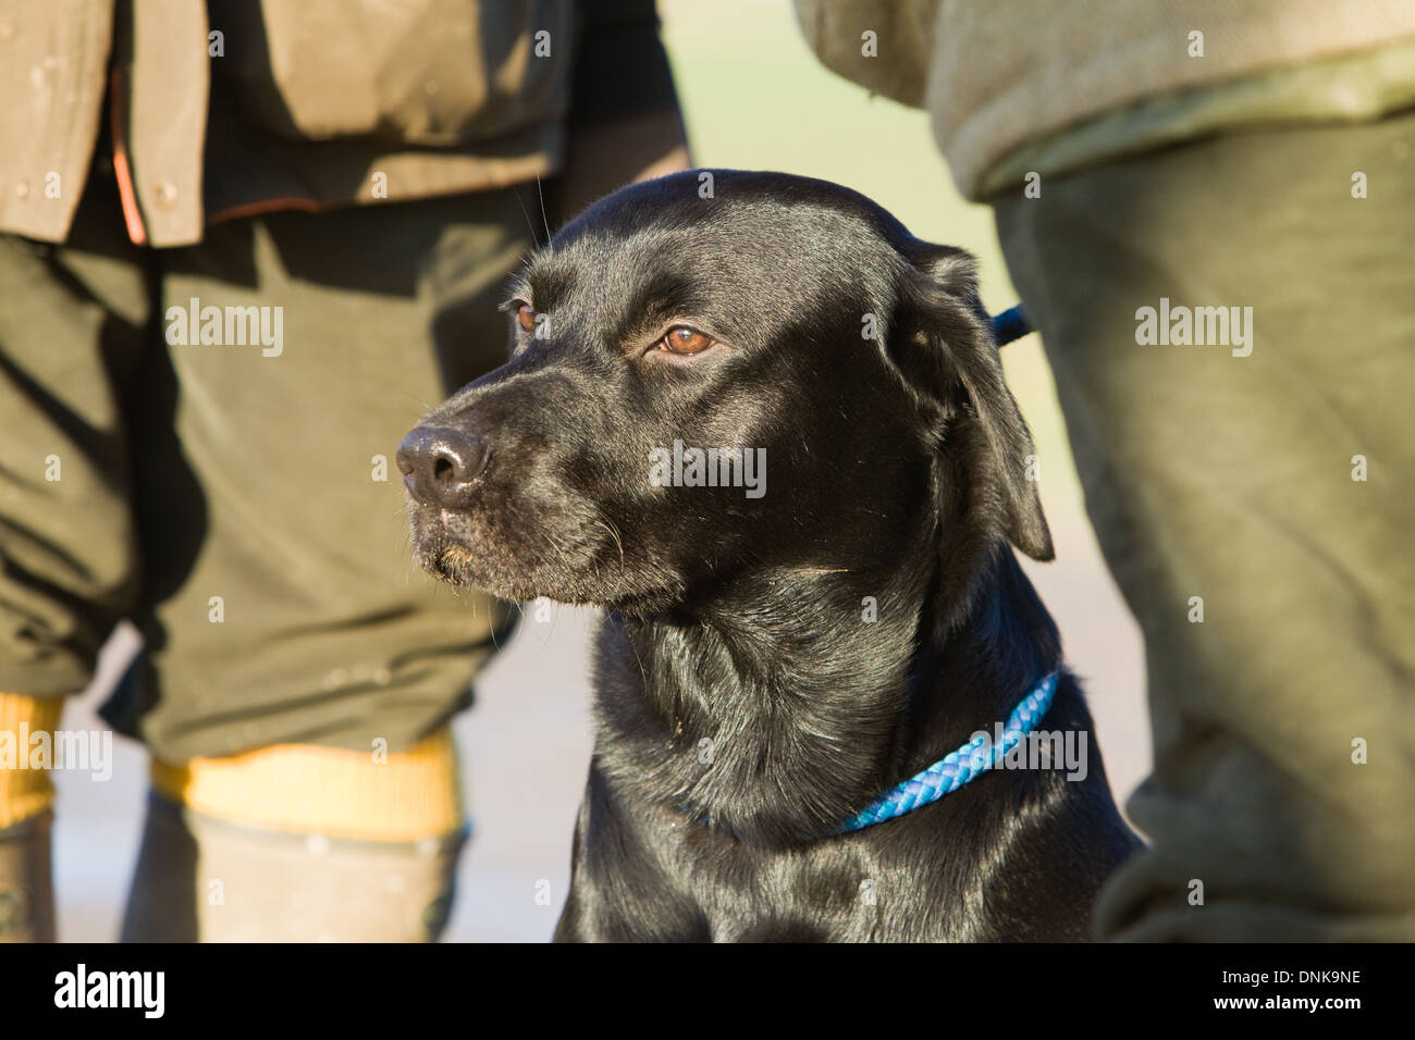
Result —
[{"label": "leg behind dog's muzzle, in olive breeches, yellow sock and boot", "polygon": [[[246,219],[164,256],[171,424],[205,536],[164,553],[171,481],[140,481],[149,652],[106,713],[149,743],[160,798],[125,938],[440,928],[423,911],[450,901],[464,826],[447,723],[509,610],[417,573],[393,456],[504,359],[497,304],[531,245],[499,191]],[[299,914],[260,917],[290,899]]]}]

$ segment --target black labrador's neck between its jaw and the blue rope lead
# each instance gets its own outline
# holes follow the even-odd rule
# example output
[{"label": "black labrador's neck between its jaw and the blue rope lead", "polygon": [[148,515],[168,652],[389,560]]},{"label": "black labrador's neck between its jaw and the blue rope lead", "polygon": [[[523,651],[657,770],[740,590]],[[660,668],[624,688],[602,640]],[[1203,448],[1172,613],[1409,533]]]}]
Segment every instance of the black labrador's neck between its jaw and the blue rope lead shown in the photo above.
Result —
[{"label": "black labrador's neck between its jaw and the blue rope lead", "polygon": [[1056,666],[1056,628],[1006,545],[969,567],[908,559],[740,577],[692,614],[610,614],[600,767],[634,797],[792,845],[990,730]]}]

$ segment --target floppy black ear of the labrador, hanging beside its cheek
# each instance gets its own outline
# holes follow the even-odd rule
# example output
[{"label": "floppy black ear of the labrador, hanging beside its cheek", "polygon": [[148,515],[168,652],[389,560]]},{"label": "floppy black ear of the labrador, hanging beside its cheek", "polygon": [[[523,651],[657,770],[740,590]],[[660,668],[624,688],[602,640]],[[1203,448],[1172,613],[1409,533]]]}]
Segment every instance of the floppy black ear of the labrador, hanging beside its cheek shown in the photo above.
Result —
[{"label": "floppy black ear of the labrador, hanging beside its cheek", "polygon": [[992,321],[978,299],[974,258],[952,246],[918,243],[907,259],[889,354],[916,393],[932,398],[955,420],[976,423],[981,461],[1002,497],[998,505],[1007,538],[1032,559],[1050,560],[1051,531],[1036,481],[1026,475],[1032,434],[1002,375]]}]

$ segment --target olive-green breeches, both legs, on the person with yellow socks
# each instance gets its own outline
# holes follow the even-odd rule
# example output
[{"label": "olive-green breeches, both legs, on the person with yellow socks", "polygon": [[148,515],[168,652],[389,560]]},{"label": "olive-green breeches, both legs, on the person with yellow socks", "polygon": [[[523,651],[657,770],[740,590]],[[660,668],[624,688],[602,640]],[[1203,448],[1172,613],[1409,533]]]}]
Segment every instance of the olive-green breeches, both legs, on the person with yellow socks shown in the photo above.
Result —
[{"label": "olive-green breeches, both legs, on the person with yellow socks", "polygon": [[504,359],[531,245],[508,190],[140,249],[99,164],[65,245],[0,236],[0,691],[132,617],[105,713],[167,761],[437,729],[508,610],[419,573],[393,454]]}]

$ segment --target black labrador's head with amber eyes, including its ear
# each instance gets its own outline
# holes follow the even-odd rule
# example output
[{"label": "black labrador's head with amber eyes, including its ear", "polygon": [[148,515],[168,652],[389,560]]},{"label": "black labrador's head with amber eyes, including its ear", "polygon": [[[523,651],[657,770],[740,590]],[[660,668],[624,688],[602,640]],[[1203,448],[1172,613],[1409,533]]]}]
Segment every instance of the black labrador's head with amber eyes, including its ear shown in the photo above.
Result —
[{"label": "black labrador's head with amber eyes, including its ear", "polygon": [[511,359],[398,451],[434,574],[625,613],[756,572],[1051,553],[962,250],[825,181],[631,185],[538,252]]}]

